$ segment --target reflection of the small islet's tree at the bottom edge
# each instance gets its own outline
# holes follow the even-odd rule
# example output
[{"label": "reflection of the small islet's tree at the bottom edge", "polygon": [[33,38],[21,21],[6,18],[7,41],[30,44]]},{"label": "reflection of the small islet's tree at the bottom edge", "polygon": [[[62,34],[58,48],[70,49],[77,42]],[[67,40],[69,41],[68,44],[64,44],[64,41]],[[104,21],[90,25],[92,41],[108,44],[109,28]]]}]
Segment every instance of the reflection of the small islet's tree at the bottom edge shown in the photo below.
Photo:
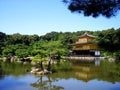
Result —
[{"label": "reflection of the small islet's tree at the bottom edge", "polygon": [[47,77],[47,80],[43,80],[43,76],[35,82],[30,84],[32,87],[38,88],[38,90],[63,90],[64,88],[61,86],[52,85],[52,79],[50,76]]}]

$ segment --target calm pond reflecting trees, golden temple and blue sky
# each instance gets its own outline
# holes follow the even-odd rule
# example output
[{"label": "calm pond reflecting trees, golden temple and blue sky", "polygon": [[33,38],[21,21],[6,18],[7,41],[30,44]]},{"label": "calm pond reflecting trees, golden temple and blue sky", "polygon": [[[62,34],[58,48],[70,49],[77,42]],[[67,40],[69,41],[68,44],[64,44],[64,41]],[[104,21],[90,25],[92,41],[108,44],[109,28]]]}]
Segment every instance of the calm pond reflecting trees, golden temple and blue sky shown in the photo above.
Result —
[{"label": "calm pond reflecting trees, golden temple and blue sky", "polygon": [[0,62],[0,90],[120,90],[120,63],[72,64],[72,70],[33,75],[30,65]]}]

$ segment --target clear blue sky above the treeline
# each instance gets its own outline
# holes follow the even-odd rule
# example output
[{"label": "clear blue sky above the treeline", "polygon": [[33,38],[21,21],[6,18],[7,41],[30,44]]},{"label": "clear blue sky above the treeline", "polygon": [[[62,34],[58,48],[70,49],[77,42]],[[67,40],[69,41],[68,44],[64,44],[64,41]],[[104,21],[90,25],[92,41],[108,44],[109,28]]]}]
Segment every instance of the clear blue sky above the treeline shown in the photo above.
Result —
[{"label": "clear blue sky above the treeline", "polygon": [[52,31],[76,32],[120,28],[115,17],[85,17],[71,13],[62,0],[0,0],[0,32],[45,35]]}]

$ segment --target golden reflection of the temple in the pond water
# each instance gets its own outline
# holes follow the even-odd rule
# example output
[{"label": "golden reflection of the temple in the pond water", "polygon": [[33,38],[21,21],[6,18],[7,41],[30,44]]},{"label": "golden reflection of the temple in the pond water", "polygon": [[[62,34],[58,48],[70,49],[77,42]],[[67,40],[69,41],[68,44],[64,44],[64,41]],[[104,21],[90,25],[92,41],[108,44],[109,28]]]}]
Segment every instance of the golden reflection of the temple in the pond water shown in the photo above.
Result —
[{"label": "golden reflection of the temple in the pond water", "polygon": [[89,80],[95,79],[97,74],[100,71],[100,67],[98,66],[75,66],[74,68],[75,76],[83,80],[85,82],[88,82]]}]

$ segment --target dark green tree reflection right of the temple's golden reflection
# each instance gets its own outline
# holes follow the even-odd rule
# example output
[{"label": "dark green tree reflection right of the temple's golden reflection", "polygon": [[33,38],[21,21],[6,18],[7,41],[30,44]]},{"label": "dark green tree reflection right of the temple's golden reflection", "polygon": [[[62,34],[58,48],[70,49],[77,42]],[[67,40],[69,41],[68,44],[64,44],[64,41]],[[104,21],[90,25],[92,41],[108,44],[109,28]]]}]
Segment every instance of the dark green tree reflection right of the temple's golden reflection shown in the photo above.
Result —
[{"label": "dark green tree reflection right of the temple's golden reflection", "polygon": [[120,62],[102,61],[101,72],[97,78],[112,83],[120,82]]}]

